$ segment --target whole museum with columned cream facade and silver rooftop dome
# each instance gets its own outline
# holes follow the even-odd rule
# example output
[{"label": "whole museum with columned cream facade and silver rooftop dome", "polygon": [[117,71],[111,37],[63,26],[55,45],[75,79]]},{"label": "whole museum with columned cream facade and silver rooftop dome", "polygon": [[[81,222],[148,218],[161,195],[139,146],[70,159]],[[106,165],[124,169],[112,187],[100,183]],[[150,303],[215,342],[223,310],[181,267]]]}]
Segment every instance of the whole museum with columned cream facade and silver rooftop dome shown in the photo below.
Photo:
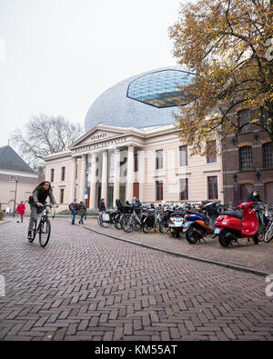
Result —
[{"label": "whole museum with columned cream facade and silver rooftop dome", "polygon": [[133,196],[142,203],[223,201],[221,157],[190,155],[177,135],[183,104],[178,86],[194,75],[172,66],[135,75],[112,86],[90,106],[86,134],[67,151],[45,159],[45,178],[60,209],[74,199],[95,209]]}]

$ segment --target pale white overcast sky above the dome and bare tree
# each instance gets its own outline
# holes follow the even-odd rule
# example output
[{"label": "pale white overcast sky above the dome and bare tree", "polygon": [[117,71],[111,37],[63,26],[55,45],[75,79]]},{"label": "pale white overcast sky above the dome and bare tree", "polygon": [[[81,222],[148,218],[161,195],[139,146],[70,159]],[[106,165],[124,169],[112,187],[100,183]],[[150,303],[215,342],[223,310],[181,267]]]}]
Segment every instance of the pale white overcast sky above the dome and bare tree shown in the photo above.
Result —
[{"label": "pale white overcast sky above the dome and bare tree", "polygon": [[84,125],[110,86],[177,65],[181,0],[0,0],[0,146],[31,115]]}]

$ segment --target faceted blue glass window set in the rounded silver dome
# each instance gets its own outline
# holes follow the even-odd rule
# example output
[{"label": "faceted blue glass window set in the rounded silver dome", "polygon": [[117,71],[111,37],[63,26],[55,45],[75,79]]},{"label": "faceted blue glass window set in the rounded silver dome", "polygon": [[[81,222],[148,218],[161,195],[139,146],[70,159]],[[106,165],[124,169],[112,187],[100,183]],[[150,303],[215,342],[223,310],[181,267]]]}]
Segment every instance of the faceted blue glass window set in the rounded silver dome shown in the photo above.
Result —
[{"label": "faceted blue glass window set in the rounded silver dome", "polygon": [[178,86],[191,82],[194,74],[163,70],[138,77],[128,86],[127,97],[158,108],[185,105]]}]

